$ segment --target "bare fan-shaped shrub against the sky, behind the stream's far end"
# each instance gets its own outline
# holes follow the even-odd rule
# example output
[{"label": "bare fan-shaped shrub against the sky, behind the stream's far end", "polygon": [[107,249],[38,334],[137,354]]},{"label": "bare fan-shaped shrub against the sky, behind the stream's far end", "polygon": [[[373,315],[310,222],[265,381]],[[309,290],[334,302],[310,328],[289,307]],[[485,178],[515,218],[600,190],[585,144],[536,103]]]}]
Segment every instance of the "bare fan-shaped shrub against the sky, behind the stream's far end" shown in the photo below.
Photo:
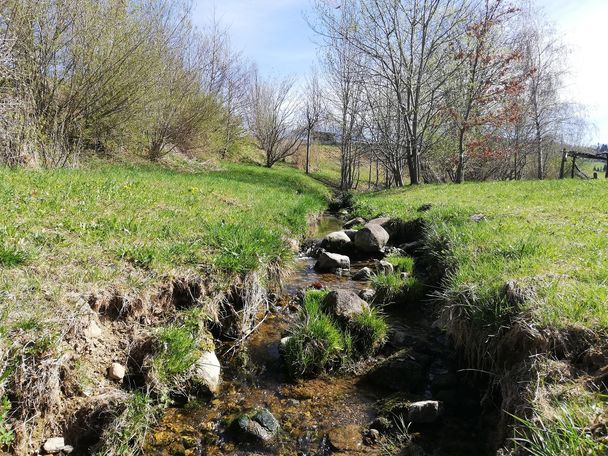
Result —
[{"label": "bare fan-shaped shrub against the sky, behind the stream's far end", "polygon": [[271,168],[297,152],[304,131],[296,123],[298,105],[292,97],[293,81],[263,80],[257,72],[252,79],[247,125],[266,153],[266,166]]}]

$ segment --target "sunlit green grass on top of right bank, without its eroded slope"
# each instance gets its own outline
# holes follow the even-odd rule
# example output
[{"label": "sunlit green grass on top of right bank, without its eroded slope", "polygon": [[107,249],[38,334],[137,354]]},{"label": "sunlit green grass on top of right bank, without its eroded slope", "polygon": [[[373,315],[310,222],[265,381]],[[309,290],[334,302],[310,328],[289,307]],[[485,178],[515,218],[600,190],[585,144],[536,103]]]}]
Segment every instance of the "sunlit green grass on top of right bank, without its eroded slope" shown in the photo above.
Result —
[{"label": "sunlit green grass on top of right bank, without its eroded slope", "polygon": [[[500,324],[525,313],[554,328],[608,328],[608,182],[424,185],[360,195],[357,215],[427,222],[427,245],[449,271],[448,298],[472,319]],[[422,204],[433,208],[417,212]],[[476,223],[470,217],[484,214]],[[531,299],[513,305],[514,280]]]}]

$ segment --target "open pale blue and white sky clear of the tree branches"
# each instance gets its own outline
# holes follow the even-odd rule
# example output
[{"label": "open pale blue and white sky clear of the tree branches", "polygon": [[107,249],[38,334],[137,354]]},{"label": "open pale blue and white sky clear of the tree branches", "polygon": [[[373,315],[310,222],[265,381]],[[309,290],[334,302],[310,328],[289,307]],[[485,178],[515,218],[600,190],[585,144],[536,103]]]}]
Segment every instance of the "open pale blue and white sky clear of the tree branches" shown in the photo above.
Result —
[{"label": "open pale blue and white sky clear of the tree branches", "polygon": [[[306,74],[316,58],[305,13],[310,0],[194,0],[196,21],[213,11],[230,28],[236,49],[266,75]],[[588,141],[608,143],[608,0],[537,0],[570,45],[568,96],[588,108]]]}]

